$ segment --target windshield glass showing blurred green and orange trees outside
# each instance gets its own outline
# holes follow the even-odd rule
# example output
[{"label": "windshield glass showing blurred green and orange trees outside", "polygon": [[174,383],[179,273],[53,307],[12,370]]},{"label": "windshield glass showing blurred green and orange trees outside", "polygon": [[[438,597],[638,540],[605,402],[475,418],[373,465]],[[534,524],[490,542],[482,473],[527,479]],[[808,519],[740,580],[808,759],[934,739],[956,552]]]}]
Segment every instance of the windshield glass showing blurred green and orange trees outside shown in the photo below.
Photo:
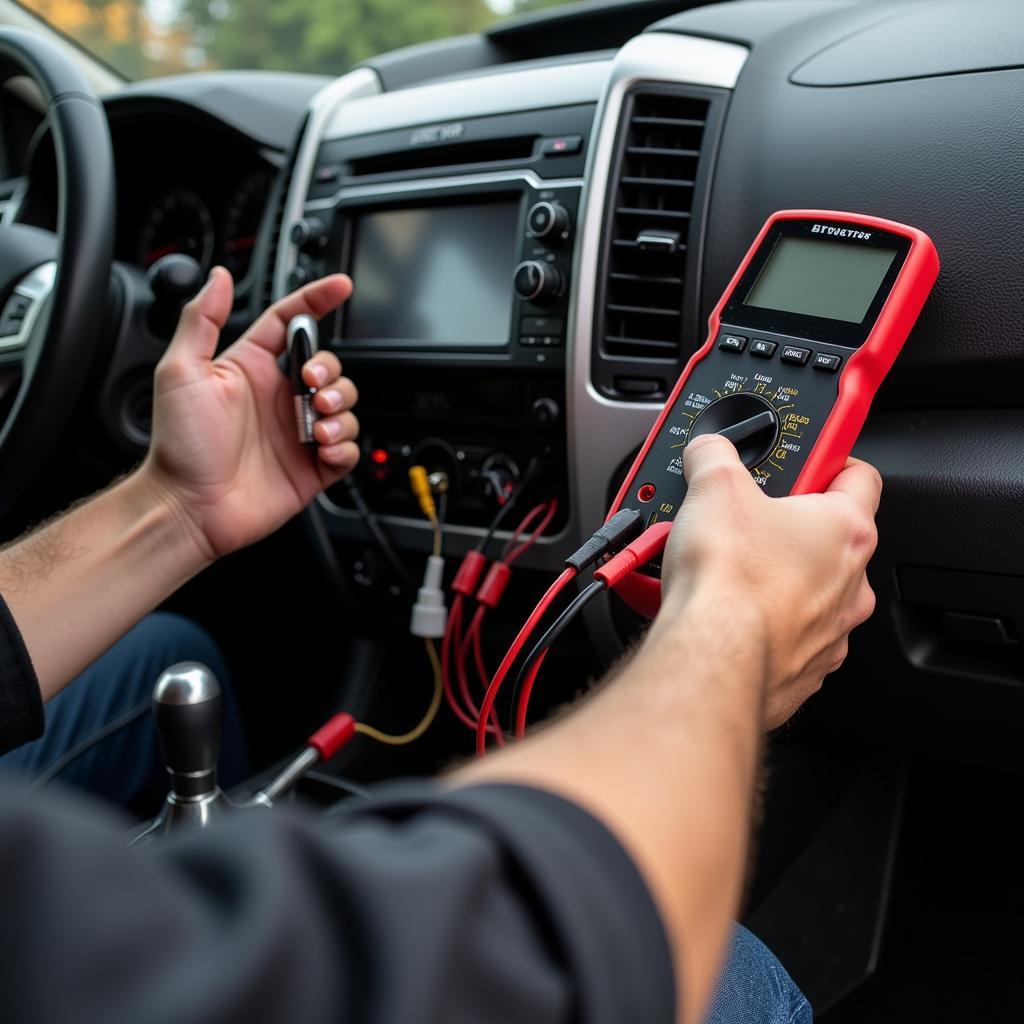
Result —
[{"label": "windshield glass showing blurred green and orange trees outside", "polygon": [[266,69],[340,75],[400,46],[566,0],[22,0],[126,78]]}]

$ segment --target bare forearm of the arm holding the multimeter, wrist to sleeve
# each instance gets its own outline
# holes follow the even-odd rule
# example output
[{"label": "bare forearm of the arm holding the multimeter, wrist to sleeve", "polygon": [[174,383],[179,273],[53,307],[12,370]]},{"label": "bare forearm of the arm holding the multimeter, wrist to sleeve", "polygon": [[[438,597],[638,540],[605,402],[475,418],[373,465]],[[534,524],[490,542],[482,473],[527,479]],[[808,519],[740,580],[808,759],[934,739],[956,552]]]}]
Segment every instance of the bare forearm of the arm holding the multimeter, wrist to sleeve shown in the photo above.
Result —
[{"label": "bare forearm of the arm holding the multimeter, wrist to sleeve", "polygon": [[725,594],[667,606],[577,714],[454,776],[548,788],[620,838],[662,911],[686,1021],[710,997],[739,906],[762,734],[758,630]]}]

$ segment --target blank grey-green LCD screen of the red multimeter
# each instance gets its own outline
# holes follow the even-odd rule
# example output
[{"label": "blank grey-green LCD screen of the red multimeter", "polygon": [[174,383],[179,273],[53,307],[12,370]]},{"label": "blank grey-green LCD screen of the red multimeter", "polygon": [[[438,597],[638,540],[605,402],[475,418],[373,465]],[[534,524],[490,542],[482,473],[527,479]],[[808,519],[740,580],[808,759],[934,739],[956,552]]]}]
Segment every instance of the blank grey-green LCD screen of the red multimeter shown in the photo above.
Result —
[{"label": "blank grey-green LCD screen of the red multimeter", "polygon": [[897,250],[783,234],[748,306],[861,324]]}]

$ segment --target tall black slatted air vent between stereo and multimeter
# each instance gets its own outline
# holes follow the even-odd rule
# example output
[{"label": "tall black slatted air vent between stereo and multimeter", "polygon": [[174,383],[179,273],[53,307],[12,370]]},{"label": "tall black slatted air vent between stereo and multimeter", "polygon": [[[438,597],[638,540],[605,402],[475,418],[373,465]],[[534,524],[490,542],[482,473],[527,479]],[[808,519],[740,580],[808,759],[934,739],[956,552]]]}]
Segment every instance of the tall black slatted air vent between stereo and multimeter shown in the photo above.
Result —
[{"label": "tall black slatted air vent between stereo and multimeter", "polygon": [[671,379],[665,365],[678,365],[693,329],[716,99],[709,90],[671,86],[641,86],[627,99],[609,179],[596,323],[595,378],[607,393],[635,397],[638,392],[624,391],[621,382]]}]

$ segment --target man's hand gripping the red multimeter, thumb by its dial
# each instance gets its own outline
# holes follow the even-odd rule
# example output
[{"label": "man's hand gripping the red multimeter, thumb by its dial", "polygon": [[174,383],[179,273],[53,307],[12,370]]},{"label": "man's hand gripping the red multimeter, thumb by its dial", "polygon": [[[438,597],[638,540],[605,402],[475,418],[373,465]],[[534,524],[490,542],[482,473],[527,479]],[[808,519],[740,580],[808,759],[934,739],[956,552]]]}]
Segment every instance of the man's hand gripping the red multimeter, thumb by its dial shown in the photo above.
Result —
[{"label": "man's hand gripping the red multimeter, thumb by its dial", "polygon": [[763,644],[774,729],[843,664],[850,631],[874,609],[865,568],[882,479],[851,459],[823,495],[768,498],[714,434],[687,446],[684,469],[659,622],[684,605],[712,631],[716,615],[738,615]]}]

